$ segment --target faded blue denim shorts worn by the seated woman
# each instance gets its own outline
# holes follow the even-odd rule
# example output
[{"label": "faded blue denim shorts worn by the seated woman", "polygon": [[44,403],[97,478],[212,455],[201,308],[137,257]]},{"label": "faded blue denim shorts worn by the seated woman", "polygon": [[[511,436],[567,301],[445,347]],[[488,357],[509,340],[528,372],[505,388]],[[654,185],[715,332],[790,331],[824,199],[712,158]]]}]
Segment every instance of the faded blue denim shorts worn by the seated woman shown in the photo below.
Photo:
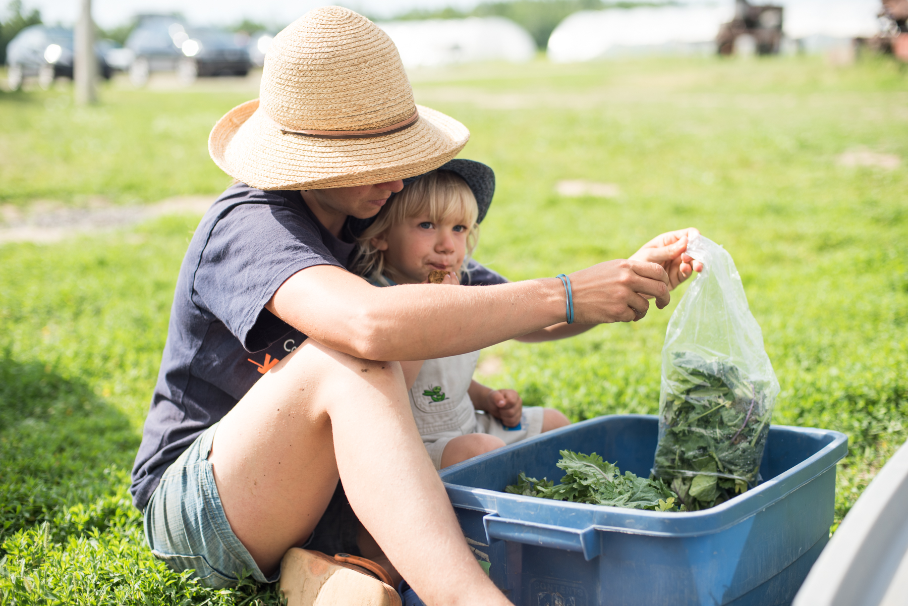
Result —
[{"label": "faded blue denim shorts worn by the seated woman", "polygon": [[[217,426],[202,432],[164,472],[145,507],[145,540],[154,557],[174,571],[193,570],[192,576],[209,587],[231,587],[241,575],[259,582],[277,581],[281,571],[266,577],[224,515],[208,462]],[[298,546],[360,555],[358,532],[359,522],[338,482],[315,531]]]}]

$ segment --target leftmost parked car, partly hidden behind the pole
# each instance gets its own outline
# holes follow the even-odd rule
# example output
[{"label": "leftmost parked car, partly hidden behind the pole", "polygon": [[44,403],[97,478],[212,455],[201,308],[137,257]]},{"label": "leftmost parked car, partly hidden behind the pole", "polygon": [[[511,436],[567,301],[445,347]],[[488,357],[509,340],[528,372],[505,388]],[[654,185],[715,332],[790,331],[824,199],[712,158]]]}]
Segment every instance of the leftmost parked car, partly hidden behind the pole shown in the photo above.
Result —
[{"label": "leftmost parked car, partly hidden behind the pole", "polygon": [[[98,74],[109,79],[113,74],[104,54],[116,43],[99,40],[94,45]],[[73,77],[73,30],[64,27],[31,25],[15,35],[6,46],[7,83],[18,90],[26,77],[37,76],[38,84],[48,88],[58,76]]]}]

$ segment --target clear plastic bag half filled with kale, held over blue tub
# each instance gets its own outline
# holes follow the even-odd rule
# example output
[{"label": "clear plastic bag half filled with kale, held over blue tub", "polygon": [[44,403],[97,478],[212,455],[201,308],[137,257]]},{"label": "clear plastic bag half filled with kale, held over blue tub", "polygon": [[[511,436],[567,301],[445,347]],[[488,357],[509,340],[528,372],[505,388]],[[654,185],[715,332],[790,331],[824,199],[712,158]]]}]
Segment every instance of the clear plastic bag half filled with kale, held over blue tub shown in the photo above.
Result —
[{"label": "clear plastic bag half filled with kale, held over blue tub", "polygon": [[652,471],[697,511],[760,481],[779,382],[731,255],[704,236],[687,253],[704,269],[668,323]]}]

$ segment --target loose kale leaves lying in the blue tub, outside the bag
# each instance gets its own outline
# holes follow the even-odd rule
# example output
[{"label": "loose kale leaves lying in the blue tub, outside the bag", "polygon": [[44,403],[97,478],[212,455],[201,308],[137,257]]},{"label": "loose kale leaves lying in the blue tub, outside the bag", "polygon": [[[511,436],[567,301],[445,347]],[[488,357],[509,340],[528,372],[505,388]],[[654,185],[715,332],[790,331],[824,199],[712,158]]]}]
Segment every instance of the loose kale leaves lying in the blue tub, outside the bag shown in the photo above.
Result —
[{"label": "loose kale leaves lying in the blue tub, outside the bag", "polygon": [[546,478],[528,478],[520,472],[517,483],[505,488],[505,492],[656,512],[678,511],[677,495],[666,482],[639,478],[631,472],[621,475],[617,465],[603,461],[596,452],[587,455],[561,451],[558,467],[565,471],[560,484]]}]

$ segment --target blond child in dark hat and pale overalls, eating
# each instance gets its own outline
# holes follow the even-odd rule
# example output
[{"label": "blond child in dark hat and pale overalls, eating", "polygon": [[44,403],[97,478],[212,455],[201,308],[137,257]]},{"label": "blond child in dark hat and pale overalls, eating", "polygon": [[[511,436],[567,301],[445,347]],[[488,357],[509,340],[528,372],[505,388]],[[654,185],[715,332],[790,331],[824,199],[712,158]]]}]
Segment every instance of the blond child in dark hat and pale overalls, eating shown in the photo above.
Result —
[{"label": "blond child in dark hat and pale overalls, eating", "polygon": [[[355,271],[378,286],[428,283],[430,273],[442,272],[442,283],[469,280],[467,262],[482,220],[477,198],[484,215],[493,187],[491,169],[467,160],[408,179],[358,238]],[[523,408],[514,390],[473,381],[478,360],[479,352],[471,352],[401,363],[410,409],[436,469],[569,423],[554,409]]]}]

